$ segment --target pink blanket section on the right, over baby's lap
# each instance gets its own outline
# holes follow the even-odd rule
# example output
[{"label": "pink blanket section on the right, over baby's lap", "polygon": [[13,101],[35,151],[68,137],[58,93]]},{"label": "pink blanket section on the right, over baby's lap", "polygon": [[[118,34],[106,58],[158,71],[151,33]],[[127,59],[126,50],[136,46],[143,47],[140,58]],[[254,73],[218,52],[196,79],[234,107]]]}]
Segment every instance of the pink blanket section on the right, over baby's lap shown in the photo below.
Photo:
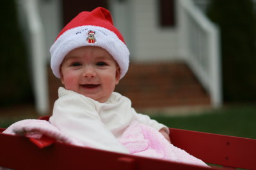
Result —
[{"label": "pink blanket section on the right, over baby's lap", "polygon": [[207,166],[202,160],[169,143],[156,129],[138,122],[125,130],[120,142],[134,155]]}]

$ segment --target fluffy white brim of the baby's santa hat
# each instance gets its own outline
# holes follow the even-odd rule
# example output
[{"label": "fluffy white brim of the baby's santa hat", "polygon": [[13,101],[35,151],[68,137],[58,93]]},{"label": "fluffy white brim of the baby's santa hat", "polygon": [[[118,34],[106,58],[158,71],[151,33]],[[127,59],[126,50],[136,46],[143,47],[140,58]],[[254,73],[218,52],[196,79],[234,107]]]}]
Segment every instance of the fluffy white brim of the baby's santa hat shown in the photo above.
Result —
[{"label": "fluffy white brim of the baby's santa hat", "polygon": [[[95,43],[88,43],[88,32],[95,32]],[[65,31],[51,46],[51,68],[54,75],[60,78],[60,65],[68,52],[81,46],[100,46],[107,50],[120,67],[120,78],[123,78],[129,67],[129,50],[113,31],[93,25],[74,27]]]}]

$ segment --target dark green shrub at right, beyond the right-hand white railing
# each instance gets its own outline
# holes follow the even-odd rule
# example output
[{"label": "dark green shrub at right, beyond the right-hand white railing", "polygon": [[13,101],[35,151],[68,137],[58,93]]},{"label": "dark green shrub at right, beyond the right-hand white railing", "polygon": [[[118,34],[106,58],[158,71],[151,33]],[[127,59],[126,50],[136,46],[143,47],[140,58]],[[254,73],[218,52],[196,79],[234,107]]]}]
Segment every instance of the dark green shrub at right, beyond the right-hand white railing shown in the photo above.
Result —
[{"label": "dark green shrub at right, beyond the right-hand white railing", "polygon": [[221,30],[224,101],[255,101],[255,15],[250,0],[212,0],[208,15]]}]

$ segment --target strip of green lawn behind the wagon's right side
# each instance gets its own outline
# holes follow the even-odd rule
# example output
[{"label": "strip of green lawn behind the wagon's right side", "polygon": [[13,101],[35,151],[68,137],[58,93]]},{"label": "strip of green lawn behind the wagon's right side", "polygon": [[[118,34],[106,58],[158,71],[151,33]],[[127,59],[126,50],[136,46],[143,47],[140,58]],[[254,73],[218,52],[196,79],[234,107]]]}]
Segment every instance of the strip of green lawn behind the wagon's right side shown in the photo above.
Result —
[{"label": "strip of green lawn behind the wagon's right side", "polygon": [[186,117],[151,118],[168,127],[256,139],[256,106],[230,106]]}]

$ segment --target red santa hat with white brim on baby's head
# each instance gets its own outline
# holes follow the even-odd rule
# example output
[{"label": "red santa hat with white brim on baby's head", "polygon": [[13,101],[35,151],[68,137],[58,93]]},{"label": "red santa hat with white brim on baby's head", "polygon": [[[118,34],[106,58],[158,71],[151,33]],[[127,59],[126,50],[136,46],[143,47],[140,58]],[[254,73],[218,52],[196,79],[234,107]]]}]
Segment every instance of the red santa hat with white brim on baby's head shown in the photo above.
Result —
[{"label": "red santa hat with white brim on baby's head", "polygon": [[108,10],[99,7],[83,11],[61,30],[50,49],[51,68],[56,77],[60,78],[60,65],[67,53],[81,46],[100,46],[107,50],[120,67],[120,78],[124,77],[130,53]]}]

